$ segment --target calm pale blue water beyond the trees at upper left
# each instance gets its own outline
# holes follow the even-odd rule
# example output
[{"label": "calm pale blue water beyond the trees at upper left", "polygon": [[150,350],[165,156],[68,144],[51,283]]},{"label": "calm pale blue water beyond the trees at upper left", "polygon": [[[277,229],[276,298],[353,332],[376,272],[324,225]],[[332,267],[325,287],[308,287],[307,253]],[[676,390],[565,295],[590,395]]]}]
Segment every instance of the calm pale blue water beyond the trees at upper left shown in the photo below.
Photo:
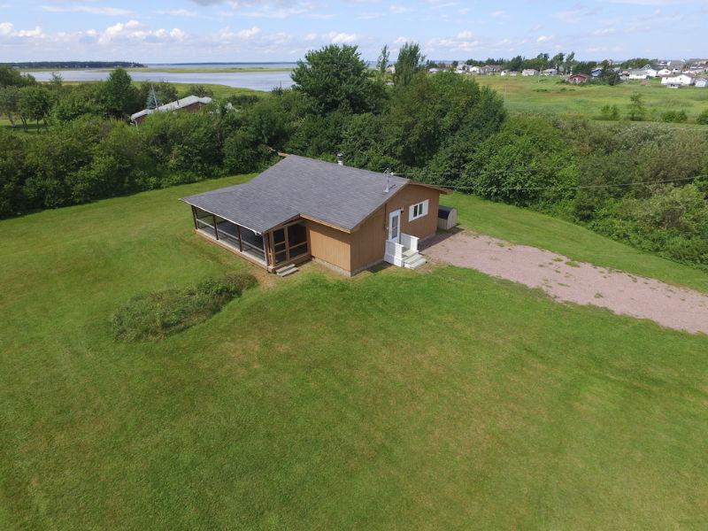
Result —
[{"label": "calm pale blue water beyond the trees at upper left", "polygon": [[[279,64],[211,64],[211,65],[160,65],[170,68],[214,68],[214,67],[235,67],[235,66],[265,66],[274,67]],[[154,68],[155,65],[149,65]],[[108,72],[97,72],[96,70],[61,70],[58,71],[64,81],[104,81],[108,77]],[[50,72],[33,72],[37,81],[50,81]],[[278,87],[289,88],[293,81],[289,72],[234,72],[234,73],[171,73],[171,72],[131,72],[130,77],[134,81],[169,81],[171,83],[187,84],[216,84],[227,85],[228,87],[239,87],[253,90],[272,90]]]}]

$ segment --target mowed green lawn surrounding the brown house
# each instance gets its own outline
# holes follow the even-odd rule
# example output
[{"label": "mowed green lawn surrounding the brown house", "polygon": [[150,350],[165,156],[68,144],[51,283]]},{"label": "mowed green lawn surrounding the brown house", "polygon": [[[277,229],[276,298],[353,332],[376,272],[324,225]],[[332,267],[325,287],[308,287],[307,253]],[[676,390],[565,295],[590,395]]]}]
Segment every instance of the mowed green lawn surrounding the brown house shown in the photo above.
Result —
[{"label": "mowed green lawn surrounding the brown house", "polygon": [[308,265],[113,341],[138,292],[257,272],[177,201],[243,179],[0,222],[0,528],[706,525],[705,336],[453,267]]}]

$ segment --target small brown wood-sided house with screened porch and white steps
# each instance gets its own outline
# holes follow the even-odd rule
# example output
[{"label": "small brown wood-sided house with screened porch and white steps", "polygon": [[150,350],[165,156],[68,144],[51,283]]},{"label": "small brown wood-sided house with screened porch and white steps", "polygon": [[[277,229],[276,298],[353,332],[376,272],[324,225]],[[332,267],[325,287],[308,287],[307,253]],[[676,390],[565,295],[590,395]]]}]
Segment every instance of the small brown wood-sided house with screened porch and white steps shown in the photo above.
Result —
[{"label": "small brown wood-sided house with screened porch and white steps", "polygon": [[313,259],[353,275],[416,268],[446,190],[393,174],[287,155],[252,181],[181,200],[198,235],[278,272]]}]

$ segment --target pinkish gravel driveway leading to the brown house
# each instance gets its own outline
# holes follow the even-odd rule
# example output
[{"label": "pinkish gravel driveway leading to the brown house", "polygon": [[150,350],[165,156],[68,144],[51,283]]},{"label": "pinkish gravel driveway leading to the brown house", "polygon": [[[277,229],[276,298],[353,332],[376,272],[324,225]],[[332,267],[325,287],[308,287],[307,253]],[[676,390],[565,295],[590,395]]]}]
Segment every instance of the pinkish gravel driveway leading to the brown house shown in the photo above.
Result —
[{"label": "pinkish gravel driveway leading to the brown house", "polygon": [[708,295],[693,289],[465,232],[437,235],[421,252],[433,260],[543,289],[558,301],[592,304],[665,327],[708,334]]}]

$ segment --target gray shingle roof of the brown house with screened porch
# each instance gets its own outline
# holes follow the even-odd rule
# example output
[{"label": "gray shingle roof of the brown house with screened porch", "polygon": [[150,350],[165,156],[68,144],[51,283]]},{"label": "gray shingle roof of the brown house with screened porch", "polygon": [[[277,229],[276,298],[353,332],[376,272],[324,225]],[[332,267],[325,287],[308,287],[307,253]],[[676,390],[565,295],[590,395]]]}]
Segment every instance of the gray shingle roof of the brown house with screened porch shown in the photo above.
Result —
[{"label": "gray shingle roof of the brown house with screened porch", "polygon": [[408,182],[289,155],[252,181],[182,198],[221,218],[262,233],[303,215],[351,230]]}]

